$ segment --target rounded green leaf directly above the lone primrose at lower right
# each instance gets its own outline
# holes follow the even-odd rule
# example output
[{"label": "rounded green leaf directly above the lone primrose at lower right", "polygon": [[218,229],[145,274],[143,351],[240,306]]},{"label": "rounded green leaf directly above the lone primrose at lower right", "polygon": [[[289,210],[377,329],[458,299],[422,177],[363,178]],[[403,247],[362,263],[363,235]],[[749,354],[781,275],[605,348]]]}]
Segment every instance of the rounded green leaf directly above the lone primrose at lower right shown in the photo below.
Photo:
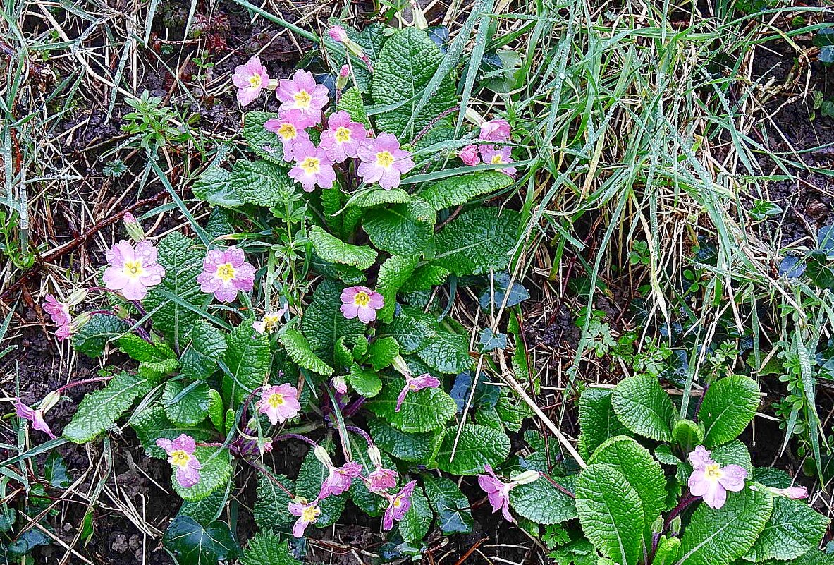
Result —
[{"label": "rounded green leaf directly above the lone primrose at lower right", "polygon": [[759,407],[759,386],[741,375],[727,376],[712,383],[701,402],[698,418],[704,424],[707,449],[736,439]]}]

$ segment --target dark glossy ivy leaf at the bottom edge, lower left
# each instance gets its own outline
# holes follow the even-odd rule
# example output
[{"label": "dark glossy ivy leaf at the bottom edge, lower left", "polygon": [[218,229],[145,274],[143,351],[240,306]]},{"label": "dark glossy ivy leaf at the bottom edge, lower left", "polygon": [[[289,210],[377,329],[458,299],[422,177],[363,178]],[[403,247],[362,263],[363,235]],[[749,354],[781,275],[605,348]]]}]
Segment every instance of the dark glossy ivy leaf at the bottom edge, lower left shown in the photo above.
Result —
[{"label": "dark glossy ivy leaf at the bottom edge, lower left", "polygon": [[238,553],[238,544],[228,524],[211,522],[203,526],[188,516],[174,518],[162,542],[180,565],[216,565]]}]

